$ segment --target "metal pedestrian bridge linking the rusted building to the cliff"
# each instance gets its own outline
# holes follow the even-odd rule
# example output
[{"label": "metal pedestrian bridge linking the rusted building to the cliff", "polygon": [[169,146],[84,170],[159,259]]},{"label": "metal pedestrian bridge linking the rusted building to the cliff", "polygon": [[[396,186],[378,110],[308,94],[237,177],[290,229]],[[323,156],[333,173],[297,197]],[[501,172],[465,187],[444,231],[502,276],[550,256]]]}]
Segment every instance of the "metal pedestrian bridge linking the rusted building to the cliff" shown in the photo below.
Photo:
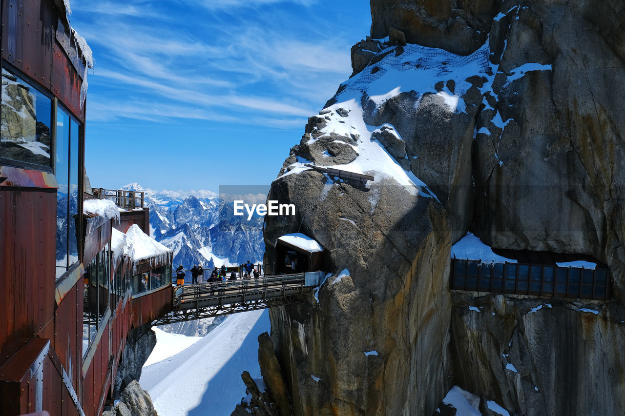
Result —
[{"label": "metal pedestrian bridge linking the rusted building to the cliff", "polygon": [[165,325],[292,304],[319,286],[324,275],[324,272],[306,272],[177,286],[172,311],[152,324]]}]

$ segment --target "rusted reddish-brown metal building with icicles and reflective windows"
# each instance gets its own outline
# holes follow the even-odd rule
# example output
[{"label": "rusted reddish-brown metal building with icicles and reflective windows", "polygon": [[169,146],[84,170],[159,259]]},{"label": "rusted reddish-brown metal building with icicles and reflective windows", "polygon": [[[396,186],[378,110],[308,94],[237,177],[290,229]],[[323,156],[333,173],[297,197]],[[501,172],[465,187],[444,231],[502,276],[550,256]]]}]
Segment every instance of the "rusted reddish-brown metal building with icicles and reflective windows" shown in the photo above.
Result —
[{"label": "rusted reddish-brown metal building with icicles and reflective windows", "polygon": [[171,253],[113,249],[149,235],[143,204],[85,209],[91,57],[63,0],[0,7],[0,414],[99,415],[129,331],[171,309]]}]

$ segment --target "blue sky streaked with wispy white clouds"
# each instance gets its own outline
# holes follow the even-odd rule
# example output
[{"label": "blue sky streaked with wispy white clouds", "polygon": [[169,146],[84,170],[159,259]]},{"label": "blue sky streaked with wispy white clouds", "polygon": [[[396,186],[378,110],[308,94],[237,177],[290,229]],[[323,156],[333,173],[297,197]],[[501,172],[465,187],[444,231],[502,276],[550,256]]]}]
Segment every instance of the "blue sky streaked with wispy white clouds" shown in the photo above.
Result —
[{"label": "blue sky streaked with wispy white clouds", "polygon": [[72,0],[93,49],[94,187],[270,184],[307,117],[351,74],[365,0]]}]

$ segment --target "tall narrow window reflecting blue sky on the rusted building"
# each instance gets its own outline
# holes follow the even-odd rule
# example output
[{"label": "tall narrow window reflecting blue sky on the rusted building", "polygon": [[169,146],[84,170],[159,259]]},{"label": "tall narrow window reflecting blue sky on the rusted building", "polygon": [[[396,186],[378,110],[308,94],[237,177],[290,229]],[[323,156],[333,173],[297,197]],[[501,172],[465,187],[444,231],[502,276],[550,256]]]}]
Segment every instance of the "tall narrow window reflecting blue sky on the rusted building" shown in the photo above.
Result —
[{"label": "tall narrow window reflecting blue sky on the rusted building", "polygon": [[78,261],[79,125],[60,106],[56,111],[54,173],[56,192],[56,278]]}]

